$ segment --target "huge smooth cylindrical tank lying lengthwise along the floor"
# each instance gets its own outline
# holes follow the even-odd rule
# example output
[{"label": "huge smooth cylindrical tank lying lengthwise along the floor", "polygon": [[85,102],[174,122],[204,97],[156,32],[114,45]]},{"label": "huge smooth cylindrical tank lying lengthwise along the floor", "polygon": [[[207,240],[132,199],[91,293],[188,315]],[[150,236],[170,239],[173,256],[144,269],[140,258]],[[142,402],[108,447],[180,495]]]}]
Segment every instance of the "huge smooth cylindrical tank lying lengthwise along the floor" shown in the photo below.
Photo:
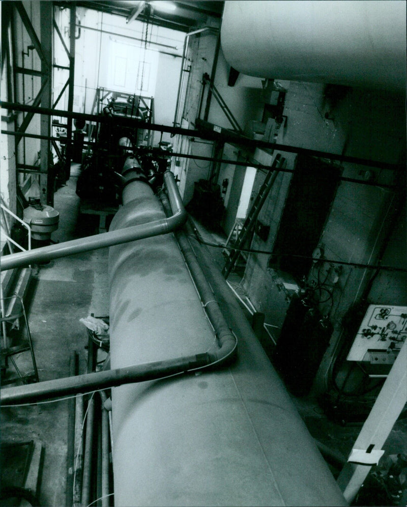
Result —
[{"label": "huge smooth cylindrical tank lying lengthwise along the floor", "polygon": [[[146,183],[126,188],[111,229],[165,216]],[[112,389],[115,505],[346,505],[224,279],[196,253],[237,357]],[[112,246],[109,279],[112,368],[213,350],[210,301],[173,234]]]}]

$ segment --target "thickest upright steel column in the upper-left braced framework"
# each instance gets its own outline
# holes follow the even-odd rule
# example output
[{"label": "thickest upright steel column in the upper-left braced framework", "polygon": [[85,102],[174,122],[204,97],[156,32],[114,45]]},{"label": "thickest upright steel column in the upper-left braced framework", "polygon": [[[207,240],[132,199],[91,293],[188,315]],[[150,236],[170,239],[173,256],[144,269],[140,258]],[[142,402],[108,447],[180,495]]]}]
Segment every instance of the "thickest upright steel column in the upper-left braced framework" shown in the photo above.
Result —
[{"label": "thickest upright steel column in the upper-left braced framework", "polygon": [[[40,2],[41,13],[41,48],[45,60],[41,61],[41,85],[46,88],[41,97],[42,107],[51,107],[52,90],[52,2]],[[51,135],[51,117],[41,115],[41,135],[49,137]],[[52,160],[49,160],[50,142],[49,139],[41,139],[41,203],[53,205],[53,178],[49,173],[49,166]]]}]

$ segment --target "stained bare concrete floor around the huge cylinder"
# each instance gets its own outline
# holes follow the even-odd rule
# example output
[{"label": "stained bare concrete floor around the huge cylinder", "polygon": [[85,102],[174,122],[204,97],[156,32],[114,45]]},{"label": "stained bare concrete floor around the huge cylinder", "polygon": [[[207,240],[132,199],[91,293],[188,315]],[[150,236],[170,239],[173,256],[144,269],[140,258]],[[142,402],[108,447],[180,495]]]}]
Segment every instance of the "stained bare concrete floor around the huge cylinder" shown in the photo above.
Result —
[{"label": "stained bare concrete floor around the huge cylinder", "polygon": [[[74,165],[67,185],[55,193],[54,207],[60,212],[60,226],[52,235],[53,241],[66,241],[97,232],[97,217],[79,216],[79,198],[75,194],[78,174],[79,168]],[[200,232],[205,239],[214,242],[225,240],[201,228]],[[220,248],[208,247],[208,256],[219,269],[222,268]],[[107,249],[55,260],[35,269],[34,273],[28,320],[40,380],[68,376],[72,350],[79,354],[79,373],[84,373],[88,335],[79,319],[90,313],[96,316],[109,313]],[[231,281],[238,284],[239,277],[232,277]],[[346,457],[360,426],[341,427],[329,421],[312,397],[294,401],[311,435]],[[67,401],[3,408],[1,411],[2,441],[39,440],[45,446],[41,505],[66,505],[67,421]],[[398,422],[386,443],[390,454],[407,453],[406,434],[405,420]]]}]

